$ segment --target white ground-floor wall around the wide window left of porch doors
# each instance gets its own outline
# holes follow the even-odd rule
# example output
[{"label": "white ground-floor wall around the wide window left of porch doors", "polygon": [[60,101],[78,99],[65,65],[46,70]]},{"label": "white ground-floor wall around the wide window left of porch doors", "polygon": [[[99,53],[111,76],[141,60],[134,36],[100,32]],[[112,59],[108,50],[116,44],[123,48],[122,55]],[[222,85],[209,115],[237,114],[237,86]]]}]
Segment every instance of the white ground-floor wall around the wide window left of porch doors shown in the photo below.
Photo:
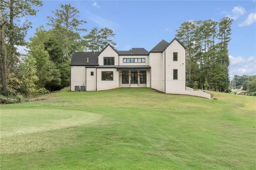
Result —
[{"label": "white ground-floor wall around the wide window left of porch doors", "polygon": [[[113,81],[101,80],[101,71],[113,71]],[[116,68],[98,68],[97,69],[97,91],[108,90],[119,87],[119,72]]]}]

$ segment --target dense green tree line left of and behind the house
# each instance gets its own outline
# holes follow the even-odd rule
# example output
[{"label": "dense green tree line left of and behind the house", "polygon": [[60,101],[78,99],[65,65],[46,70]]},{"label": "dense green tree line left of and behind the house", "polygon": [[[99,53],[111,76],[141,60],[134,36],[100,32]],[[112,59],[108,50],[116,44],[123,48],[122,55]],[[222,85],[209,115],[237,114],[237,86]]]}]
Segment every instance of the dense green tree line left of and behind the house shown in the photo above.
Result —
[{"label": "dense green tree line left of and behind the house", "polygon": [[[40,0],[4,0],[0,3],[1,95],[25,97],[60,90],[70,84],[70,60],[75,51],[100,51],[112,40],[110,28],[94,27],[86,33],[86,21],[70,4],[61,4],[47,17],[45,29],[36,29],[29,42],[25,41],[31,22],[18,22],[27,15],[36,15]],[[18,52],[26,46],[27,54]]]}]

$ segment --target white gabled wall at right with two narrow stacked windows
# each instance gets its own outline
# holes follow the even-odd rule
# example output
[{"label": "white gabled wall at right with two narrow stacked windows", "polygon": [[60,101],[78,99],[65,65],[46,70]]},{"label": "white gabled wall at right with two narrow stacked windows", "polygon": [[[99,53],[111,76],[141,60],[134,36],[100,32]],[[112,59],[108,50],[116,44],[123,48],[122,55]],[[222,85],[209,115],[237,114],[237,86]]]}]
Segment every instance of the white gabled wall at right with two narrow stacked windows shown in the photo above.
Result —
[{"label": "white gabled wall at right with two narrow stacked windows", "polygon": [[[173,61],[173,52],[178,52],[178,61]],[[165,50],[166,93],[184,93],[186,87],[186,50],[176,40]],[[173,69],[178,69],[178,80],[173,79]]]}]

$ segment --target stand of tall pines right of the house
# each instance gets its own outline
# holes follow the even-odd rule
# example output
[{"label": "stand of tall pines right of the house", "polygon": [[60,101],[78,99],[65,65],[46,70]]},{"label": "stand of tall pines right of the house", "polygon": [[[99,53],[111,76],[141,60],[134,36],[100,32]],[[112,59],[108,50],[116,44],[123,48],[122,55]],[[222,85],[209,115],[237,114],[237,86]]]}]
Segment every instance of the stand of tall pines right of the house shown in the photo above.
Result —
[{"label": "stand of tall pines right of the house", "polygon": [[183,22],[176,36],[187,47],[187,86],[229,91],[228,44],[233,19]]}]

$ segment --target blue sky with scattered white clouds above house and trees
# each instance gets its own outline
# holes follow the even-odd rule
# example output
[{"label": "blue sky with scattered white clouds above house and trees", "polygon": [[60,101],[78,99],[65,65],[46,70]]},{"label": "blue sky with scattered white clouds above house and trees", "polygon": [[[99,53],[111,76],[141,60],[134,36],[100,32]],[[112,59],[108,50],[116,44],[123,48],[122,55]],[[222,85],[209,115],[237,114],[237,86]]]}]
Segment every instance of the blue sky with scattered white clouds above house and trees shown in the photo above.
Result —
[{"label": "blue sky with scattered white clouds above house and trees", "polygon": [[144,47],[150,51],[162,39],[170,42],[185,21],[233,18],[230,77],[256,74],[256,1],[43,1],[35,17],[23,18],[33,23],[27,41],[39,26],[49,29],[47,16],[65,3],[80,11],[79,19],[87,21],[84,28],[88,31],[93,27],[113,29],[117,50]]}]

